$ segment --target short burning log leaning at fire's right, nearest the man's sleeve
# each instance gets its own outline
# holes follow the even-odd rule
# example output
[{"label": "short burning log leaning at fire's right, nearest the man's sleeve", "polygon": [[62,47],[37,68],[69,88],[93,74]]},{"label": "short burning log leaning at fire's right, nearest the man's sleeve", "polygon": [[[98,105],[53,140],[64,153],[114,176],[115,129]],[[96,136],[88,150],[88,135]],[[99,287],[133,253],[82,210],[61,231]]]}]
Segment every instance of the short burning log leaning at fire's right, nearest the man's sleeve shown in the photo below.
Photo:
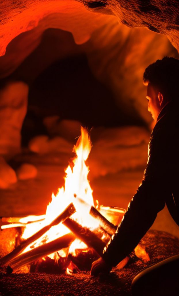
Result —
[{"label": "short burning log leaning at fire's right, nearest the man's sleeve", "polygon": [[89,213],[93,218],[99,221],[100,226],[107,231],[107,233],[113,235],[116,232],[117,226],[109,222],[95,207],[91,206]]}]

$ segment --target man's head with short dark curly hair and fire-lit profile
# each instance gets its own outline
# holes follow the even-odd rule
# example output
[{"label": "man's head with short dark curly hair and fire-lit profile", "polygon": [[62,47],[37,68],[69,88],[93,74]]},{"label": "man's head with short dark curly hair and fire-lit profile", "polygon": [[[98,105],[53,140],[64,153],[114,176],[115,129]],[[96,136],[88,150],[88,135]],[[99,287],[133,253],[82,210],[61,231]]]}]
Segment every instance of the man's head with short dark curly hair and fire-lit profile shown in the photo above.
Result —
[{"label": "man's head with short dark curly hair and fire-lit profile", "polygon": [[148,111],[156,121],[167,102],[179,99],[179,60],[157,60],[145,69],[143,81],[147,85]]}]

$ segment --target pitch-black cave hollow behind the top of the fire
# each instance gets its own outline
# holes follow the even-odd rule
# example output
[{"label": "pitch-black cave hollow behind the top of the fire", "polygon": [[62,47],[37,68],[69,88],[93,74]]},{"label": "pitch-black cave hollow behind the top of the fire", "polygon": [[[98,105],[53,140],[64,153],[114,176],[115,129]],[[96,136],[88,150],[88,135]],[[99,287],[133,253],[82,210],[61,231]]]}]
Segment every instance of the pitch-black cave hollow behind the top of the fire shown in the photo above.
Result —
[{"label": "pitch-black cave hollow behind the top of the fire", "polygon": [[53,63],[31,84],[28,111],[22,127],[25,140],[45,133],[43,118],[78,120],[83,126],[142,125],[117,107],[112,92],[91,73],[85,54]]}]

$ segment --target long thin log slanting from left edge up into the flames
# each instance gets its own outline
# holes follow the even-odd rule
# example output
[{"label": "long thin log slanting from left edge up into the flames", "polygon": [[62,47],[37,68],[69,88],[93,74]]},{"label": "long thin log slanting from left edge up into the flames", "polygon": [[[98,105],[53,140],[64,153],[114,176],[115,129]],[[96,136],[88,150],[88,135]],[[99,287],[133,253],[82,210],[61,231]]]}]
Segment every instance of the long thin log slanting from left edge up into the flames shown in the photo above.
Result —
[{"label": "long thin log slanting from left edge up into the flames", "polygon": [[60,222],[63,222],[66,218],[70,217],[72,214],[76,212],[73,203],[61,213],[54,221],[52,221],[49,225],[43,227],[38,232],[33,234],[31,237],[23,241],[18,247],[16,247],[12,252],[4,256],[0,259],[0,265],[5,265],[10,262],[13,258],[15,258],[19,253],[21,253],[29,244],[35,242],[38,238],[40,238],[45,232],[47,232],[52,226],[58,225]]}]

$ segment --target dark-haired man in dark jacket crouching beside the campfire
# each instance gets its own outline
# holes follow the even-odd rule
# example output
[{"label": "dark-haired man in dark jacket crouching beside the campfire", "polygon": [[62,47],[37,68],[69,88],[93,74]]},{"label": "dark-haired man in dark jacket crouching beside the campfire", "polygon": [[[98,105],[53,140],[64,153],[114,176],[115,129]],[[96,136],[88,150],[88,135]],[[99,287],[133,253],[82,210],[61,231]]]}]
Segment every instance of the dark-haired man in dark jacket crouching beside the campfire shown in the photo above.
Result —
[{"label": "dark-haired man in dark jacket crouching beside the campfire", "polygon": [[[178,75],[179,60],[169,57],[157,60],[144,72],[148,111],[156,122],[150,137],[147,166],[116,234],[104,249],[103,258],[93,263],[92,275],[111,271],[129,255],[165,204],[179,225]],[[178,282],[179,256],[175,256],[139,274],[132,284],[133,294],[179,295]]]}]

